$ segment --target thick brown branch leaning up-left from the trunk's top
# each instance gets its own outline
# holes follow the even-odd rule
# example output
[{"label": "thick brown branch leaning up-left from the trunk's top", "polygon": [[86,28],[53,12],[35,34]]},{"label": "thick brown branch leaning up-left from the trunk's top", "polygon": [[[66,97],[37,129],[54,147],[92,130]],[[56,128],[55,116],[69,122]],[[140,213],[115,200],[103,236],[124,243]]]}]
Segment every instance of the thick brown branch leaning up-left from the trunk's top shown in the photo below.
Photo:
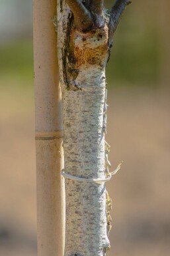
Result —
[{"label": "thick brown branch leaning up-left from the trunk's top", "polygon": [[87,30],[93,25],[93,17],[80,0],[66,0],[73,12],[75,26],[79,30]]}]

